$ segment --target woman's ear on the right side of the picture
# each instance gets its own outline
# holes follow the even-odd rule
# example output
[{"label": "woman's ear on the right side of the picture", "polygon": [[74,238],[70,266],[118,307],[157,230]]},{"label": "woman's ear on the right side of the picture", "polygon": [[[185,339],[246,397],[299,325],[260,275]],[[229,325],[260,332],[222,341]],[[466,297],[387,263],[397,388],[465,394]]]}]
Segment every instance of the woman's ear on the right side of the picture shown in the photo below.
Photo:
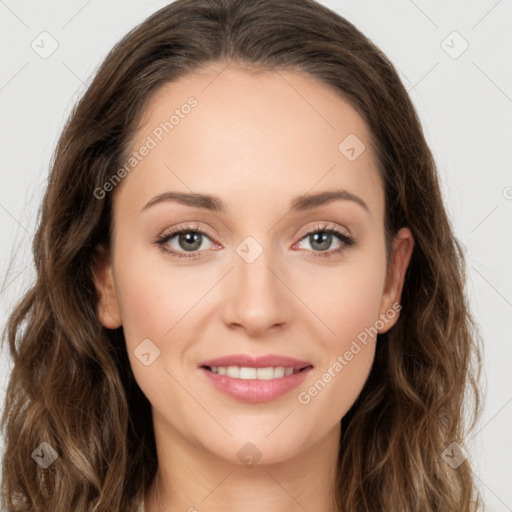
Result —
[{"label": "woman's ear on the right side of the picture", "polygon": [[[386,319],[384,327],[379,329],[379,334],[382,334],[398,320],[398,305],[402,296],[402,289],[404,286],[405,273],[411,259],[412,251],[414,249],[414,238],[408,228],[402,228],[398,231],[393,239],[393,249],[391,254],[391,261],[389,262],[388,271],[386,275],[386,282],[382,299],[380,304],[380,318]],[[390,314],[390,311],[393,314]]]}]

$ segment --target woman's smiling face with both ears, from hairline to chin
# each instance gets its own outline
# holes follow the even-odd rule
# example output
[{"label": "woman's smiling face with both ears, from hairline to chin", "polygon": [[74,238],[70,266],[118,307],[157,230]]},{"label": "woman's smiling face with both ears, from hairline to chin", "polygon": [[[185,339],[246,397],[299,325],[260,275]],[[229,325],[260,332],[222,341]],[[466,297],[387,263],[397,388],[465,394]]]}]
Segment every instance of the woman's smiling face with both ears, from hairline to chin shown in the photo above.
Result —
[{"label": "woman's smiling face with both ears, from hairline to chin", "polygon": [[383,184],[346,101],[293,72],[221,70],[153,96],[104,188],[99,315],[123,325],[157,437],[275,462],[338,434],[398,318],[412,238],[387,272]]}]

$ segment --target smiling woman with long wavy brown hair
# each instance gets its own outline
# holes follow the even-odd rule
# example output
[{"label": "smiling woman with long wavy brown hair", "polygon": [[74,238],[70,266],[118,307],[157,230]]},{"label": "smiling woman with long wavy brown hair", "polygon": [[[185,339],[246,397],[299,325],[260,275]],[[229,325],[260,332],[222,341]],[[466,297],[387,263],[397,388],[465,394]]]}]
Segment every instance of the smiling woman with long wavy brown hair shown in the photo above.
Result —
[{"label": "smiling woman with long wavy brown hair", "polygon": [[33,249],[8,510],[477,509],[462,252],[395,69],[329,9],[178,0],[131,31]]}]

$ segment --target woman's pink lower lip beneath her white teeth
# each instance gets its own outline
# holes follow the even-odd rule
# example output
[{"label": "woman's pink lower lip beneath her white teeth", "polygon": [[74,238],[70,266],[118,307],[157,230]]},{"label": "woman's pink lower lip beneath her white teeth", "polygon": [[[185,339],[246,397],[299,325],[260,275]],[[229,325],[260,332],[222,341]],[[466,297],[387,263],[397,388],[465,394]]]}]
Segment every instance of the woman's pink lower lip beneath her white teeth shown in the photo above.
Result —
[{"label": "woman's pink lower lip beneath her white teeth", "polygon": [[199,369],[225,395],[242,402],[261,403],[275,400],[300,386],[313,368],[309,366],[301,372],[271,380],[235,379],[227,375],[213,373],[206,368]]}]

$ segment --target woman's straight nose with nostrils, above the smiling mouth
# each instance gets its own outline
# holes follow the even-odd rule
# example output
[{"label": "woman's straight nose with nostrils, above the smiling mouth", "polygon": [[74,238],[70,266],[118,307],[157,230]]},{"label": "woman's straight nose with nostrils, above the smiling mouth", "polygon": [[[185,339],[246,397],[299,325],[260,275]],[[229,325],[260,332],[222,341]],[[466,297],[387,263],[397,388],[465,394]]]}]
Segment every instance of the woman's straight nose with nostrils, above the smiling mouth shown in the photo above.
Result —
[{"label": "woman's straight nose with nostrils, above the smiling mouth", "polygon": [[287,286],[284,266],[264,250],[249,263],[234,254],[234,268],[225,280],[223,321],[231,329],[261,337],[284,329],[293,316],[293,292]]}]

